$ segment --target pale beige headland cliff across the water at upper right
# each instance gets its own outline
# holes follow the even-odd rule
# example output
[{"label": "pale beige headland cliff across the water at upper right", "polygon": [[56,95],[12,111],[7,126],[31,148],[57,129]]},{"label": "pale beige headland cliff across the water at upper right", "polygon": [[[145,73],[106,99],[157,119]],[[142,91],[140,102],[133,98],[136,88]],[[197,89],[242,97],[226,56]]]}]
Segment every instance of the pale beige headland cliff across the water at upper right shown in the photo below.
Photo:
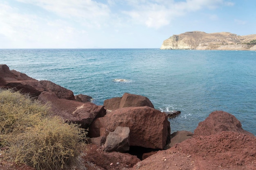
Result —
[{"label": "pale beige headland cliff across the water at upper right", "polygon": [[191,31],[164,40],[161,50],[256,50],[256,34],[240,36],[232,33]]}]

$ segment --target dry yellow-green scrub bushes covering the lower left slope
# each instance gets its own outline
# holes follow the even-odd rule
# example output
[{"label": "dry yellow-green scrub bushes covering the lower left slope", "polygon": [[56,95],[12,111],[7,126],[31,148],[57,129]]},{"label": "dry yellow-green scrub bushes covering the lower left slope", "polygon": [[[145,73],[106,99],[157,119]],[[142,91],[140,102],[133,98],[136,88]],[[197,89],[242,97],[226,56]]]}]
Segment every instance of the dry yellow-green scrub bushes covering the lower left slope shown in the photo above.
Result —
[{"label": "dry yellow-green scrub bushes covering the lower left slope", "polygon": [[87,131],[48,113],[47,105],[28,95],[0,90],[0,140],[15,162],[55,170],[79,154]]}]

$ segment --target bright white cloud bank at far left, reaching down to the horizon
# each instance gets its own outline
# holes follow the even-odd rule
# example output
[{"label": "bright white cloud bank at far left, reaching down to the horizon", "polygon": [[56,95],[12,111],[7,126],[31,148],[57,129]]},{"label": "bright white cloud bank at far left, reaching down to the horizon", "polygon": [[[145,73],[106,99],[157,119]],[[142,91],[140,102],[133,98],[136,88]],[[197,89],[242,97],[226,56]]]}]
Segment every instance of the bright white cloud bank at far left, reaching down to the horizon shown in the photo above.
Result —
[{"label": "bright white cloud bank at far left, reaching down to the horizon", "polygon": [[[74,28],[64,20],[47,20],[22,14],[19,9],[0,4],[0,48],[66,48],[76,47],[78,39],[85,39],[86,31]],[[11,15],[10,15],[11,14]],[[83,37],[83,38],[82,38]],[[10,48],[10,47],[9,47]]]}]

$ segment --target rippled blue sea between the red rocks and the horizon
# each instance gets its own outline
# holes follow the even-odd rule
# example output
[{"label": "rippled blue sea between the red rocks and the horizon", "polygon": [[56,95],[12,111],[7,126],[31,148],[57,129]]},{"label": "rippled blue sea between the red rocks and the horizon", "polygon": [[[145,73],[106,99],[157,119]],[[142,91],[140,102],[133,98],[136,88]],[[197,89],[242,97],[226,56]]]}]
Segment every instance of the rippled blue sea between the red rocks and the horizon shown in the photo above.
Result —
[{"label": "rippled blue sea between the red rocks and the horizon", "polygon": [[92,96],[97,105],[125,92],[146,96],[155,109],[181,111],[169,119],[172,132],[193,132],[222,110],[256,135],[256,51],[0,49],[0,64]]}]

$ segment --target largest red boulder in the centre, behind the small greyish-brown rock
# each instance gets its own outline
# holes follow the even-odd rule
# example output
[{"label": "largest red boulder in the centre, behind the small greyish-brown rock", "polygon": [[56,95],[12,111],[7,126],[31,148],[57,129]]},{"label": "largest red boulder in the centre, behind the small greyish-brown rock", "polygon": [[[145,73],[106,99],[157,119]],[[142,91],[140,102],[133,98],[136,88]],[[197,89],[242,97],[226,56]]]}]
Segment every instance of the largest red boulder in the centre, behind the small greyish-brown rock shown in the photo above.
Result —
[{"label": "largest red boulder in the centre, behind the small greyish-brown rock", "polygon": [[99,137],[101,128],[114,131],[117,126],[130,128],[130,146],[155,149],[164,149],[171,131],[165,113],[148,106],[124,107],[94,120],[89,136]]}]

